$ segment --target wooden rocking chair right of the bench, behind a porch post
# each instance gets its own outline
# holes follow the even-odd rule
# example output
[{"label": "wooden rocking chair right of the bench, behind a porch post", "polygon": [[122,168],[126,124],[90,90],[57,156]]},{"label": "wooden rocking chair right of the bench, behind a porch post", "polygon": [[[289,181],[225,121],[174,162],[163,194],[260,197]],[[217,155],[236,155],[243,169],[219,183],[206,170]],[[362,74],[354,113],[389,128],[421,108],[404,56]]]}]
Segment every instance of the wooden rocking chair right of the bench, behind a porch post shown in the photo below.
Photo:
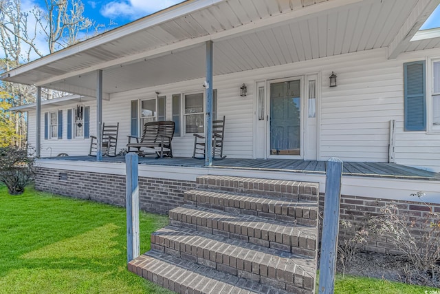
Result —
[{"label": "wooden rocking chair right of the bench, behind a porch post", "polygon": [[[194,135],[194,151],[192,158],[205,158],[205,137],[199,134]],[[223,138],[225,135],[225,116],[223,120],[212,121],[212,159],[220,160],[223,156]]]}]

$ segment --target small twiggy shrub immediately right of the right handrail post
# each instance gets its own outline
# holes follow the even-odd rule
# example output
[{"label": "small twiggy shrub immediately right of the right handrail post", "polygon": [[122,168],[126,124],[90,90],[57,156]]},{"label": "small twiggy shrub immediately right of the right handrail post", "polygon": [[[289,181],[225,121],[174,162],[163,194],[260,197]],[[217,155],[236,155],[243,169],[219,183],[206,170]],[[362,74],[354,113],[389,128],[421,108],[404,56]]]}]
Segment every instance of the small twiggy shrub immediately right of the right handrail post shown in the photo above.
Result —
[{"label": "small twiggy shrub immediately right of the right handrail post", "polygon": [[342,264],[342,276],[345,275],[345,267],[356,259],[356,256],[366,244],[369,232],[361,227],[356,229],[349,220],[340,220],[340,227],[345,235],[338,240],[338,258]]}]

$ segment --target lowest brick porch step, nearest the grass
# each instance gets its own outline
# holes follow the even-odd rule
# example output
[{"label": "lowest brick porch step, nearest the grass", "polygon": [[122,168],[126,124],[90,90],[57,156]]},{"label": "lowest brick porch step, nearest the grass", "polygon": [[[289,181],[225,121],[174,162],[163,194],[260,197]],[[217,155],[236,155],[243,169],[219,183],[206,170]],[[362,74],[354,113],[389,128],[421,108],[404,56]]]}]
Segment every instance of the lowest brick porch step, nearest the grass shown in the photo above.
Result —
[{"label": "lowest brick porch step, nearest the grass", "polygon": [[287,294],[272,286],[221,273],[157,251],[148,251],[129,262],[129,271],[181,294]]}]

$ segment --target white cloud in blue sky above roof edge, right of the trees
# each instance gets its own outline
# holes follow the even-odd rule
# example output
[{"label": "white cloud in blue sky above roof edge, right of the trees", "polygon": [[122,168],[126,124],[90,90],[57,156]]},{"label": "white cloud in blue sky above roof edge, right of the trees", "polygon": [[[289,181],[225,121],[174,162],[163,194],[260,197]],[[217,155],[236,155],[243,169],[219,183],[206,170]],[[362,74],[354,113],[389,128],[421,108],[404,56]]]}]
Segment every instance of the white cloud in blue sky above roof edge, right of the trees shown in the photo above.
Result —
[{"label": "white cloud in blue sky above roof edge, right of the trees", "polygon": [[129,17],[129,19],[138,19],[145,15],[168,8],[182,0],[129,0],[129,1],[111,1],[102,6],[100,12],[104,17],[116,19],[118,17]]}]

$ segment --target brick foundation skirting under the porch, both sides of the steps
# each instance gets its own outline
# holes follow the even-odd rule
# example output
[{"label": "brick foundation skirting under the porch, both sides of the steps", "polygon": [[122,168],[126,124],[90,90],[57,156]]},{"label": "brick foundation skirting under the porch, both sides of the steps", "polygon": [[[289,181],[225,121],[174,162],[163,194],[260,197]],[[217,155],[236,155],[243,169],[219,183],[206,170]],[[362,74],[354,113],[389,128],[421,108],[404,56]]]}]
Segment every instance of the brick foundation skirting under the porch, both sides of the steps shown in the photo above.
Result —
[{"label": "brick foundation skirting under the porch, both sides of the steps", "polygon": [[[139,178],[140,209],[154,213],[168,213],[170,209],[184,204],[184,192],[196,187],[196,182],[168,180],[165,178]],[[98,174],[87,171],[67,171],[40,167],[35,188],[75,198],[125,206],[125,176]],[[393,202],[399,213],[407,213],[410,220],[422,223],[429,209],[420,202],[377,199],[360,196],[341,196],[340,219],[349,220],[360,228],[371,216],[380,215],[380,209]],[[432,211],[440,212],[440,204],[428,204]],[[320,195],[320,214],[324,208],[324,196]],[[320,222],[320,225],[322,223]],[[340,238],[345,232],[340,228]],[[386,237],[369,236],[364,249],[378,253],[398,253]]]}]

